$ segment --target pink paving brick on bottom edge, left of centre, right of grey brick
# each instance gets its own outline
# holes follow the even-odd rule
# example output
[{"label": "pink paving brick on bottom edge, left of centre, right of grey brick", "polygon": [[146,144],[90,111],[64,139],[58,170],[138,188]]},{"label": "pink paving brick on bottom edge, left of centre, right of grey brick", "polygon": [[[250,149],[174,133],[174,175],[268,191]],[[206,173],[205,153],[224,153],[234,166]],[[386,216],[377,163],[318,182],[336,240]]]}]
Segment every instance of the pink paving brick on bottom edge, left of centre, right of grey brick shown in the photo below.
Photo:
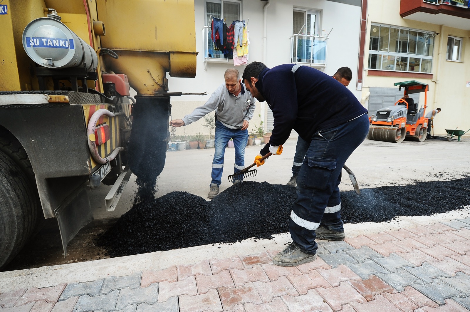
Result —
[{"label": "pink paving brick on bottom edge, left of centre, right of grey brick", "polygon": [[207,310],[211,310],[212,312],[223,311],[219,293],[216,289],[211,289],[204,295],[182,295],[179,296],[178,299],[180,312],[204,312]]}]

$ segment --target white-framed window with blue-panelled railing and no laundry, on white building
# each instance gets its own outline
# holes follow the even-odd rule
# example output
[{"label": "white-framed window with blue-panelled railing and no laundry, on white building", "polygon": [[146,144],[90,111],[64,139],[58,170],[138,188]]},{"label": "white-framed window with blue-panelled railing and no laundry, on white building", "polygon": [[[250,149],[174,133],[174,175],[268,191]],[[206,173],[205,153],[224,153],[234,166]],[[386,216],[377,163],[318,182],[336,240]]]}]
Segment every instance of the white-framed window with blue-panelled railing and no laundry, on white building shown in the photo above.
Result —
[{"label": "white-framed window with blue-panelled railing and no laundry, on white building", "polygon": [[320,31],[319,11],[294,9],[291,62],[325,64],[327,39]]}]

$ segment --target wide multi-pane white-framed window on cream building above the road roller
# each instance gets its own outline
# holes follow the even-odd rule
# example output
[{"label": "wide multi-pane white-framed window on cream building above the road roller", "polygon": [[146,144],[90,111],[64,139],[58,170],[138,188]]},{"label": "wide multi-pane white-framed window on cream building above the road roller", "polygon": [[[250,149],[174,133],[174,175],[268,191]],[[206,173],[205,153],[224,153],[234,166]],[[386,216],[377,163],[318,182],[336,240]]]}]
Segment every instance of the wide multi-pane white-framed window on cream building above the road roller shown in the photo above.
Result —
[{"label": "wide multi-pane white-framed window on cream building above the road roller", "polygon": [[368,68],[431,73],[434,33],[371,23]]}]

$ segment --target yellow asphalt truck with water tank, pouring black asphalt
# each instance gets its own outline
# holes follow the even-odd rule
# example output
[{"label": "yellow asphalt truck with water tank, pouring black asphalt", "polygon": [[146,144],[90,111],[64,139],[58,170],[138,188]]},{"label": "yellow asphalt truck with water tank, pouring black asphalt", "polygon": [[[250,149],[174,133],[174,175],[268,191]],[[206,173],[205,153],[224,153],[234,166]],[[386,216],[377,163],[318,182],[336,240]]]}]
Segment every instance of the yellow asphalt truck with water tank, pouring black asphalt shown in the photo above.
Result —
[{"label": "yellow asphalt truck with water tank, pouring black asphalt", "polygon": [[2,0],[0,27],[2,267],[44,218],[66,255],[87,187],[113,185],[112,210],[131,172],[156,179],[180,95],[166,73],[195,77],[196,39],[193,0]]}]

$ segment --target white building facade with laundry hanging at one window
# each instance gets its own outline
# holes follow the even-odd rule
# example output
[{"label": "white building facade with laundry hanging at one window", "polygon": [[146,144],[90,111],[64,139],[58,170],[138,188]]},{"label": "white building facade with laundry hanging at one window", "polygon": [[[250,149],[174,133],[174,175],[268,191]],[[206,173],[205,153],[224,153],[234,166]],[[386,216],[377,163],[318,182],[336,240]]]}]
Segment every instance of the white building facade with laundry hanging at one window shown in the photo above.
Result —
[{"label": "white building facade with laundry hanging at one window", "polygon": [[[233,59],[210,48],[210,17],[225,19],[228,26],[234,20],[245,21],[250,40],[248,62],[264,62],[270,68],[301,63],[329,75],[343,66],[351,68],[349,89],[360,99],[356,78],[361,0],[195,0],[196,78],[168,77],[169,92],[211,94],[224,83],[225,70],[234,68]],[[240,76],[245,66],[235,66]],[[172,118],[184,117],[207,99],[209,95],[173,96]],[[261,121],[265,132],[272,130],[272,113],[265,102],[257,102],[249,131]],[[204,118],[176,129],[177,135],[196,133],[209,134]]]}]

